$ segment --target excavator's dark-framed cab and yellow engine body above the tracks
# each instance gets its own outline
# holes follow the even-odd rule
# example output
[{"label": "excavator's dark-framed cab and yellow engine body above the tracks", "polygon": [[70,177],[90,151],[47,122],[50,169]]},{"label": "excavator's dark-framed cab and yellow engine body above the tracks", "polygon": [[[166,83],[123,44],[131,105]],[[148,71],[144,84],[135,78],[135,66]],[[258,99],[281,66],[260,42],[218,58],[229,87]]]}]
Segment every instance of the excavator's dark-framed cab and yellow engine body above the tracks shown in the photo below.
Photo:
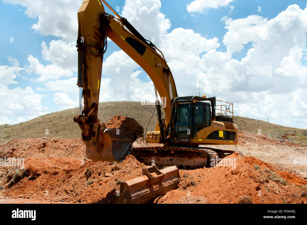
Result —
[{"label": "excavator's dark-framed cab and yellow engine body above the tracks", "polygon": [[[177,97],[173,100],[171,119],[169,126],[164,126],[161,135],[160,127],[156,126],[156,131],[149,131],[146,134],[146,141],[149,143],[200,145],[200,144],[222,144],[236,145],[238,143],[237,126],[233,123],[233,118],[226,115],[230,111],[232,103],[221,102],[216,109],[216,98],[206,98],[200,96]],[[223,110],[222,107],[226,109]],[[159,111],[160,109],[157,108]],[[218,113],[216,113],[218,111]],[[159,117],[159,116],[158,116]],[[158,128],[159,127],[159,128]],[[157,131],[160,129],[160,132]],[[166,130],[166,131],[165,131]]]}]

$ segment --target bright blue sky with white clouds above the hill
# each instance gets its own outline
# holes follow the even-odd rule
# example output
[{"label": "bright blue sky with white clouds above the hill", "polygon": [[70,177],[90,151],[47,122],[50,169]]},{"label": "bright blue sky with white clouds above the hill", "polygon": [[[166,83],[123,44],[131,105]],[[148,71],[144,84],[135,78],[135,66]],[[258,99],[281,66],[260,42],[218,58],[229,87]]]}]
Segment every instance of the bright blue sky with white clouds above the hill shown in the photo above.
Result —
[{"label": "bright blue sky with white clouds above the hill", "polygon": [[[35,4],[33,1],[0,1],[0,19],[5,21],[2,22],[0,36],[0,78],[4,80],[6,77],[2,83],[5,88],[2,88],[0,100],[0,124],[23,122],[46,113],[77,107],[78,88],[75,80],[69,79],[77,77],[76,48],[73,45],[77,38],[76,15],[82,1],[60,2],[38,1]],[[272,123],[307,128],[307,114],[304,110],[307,109],[306,1],[205,2],[108,1],[113,8],[119,6],[120,14],[126,15],[128,21],[146,39],[158,36],[155,44],[163,53],[166,52],[165,58],[174,70],[178,95],[198,95],[198,81],[201,80],[201,92],[210,92],[220,100],[235,103],[236,115],[261,120],[269,118]],[[216,6],[214,2],[224,3]],[[154,4],[158,7],[153,7]],[[193,8],[193,4],[196,7]],[[295,4],[299,7],[293,6]],[[189,5],[192,10],[188,10]],[[139,14],[141,6],[156,14]],[[261,12],[258,12],[259,6]],[[105,9],[110,12],[107,7]],[[163,14],[164,18],[157,18],[157,14]],[[138,19],[133,18],[135,15]],[[148,30],[146,26],[152,26],[155,21],[159,21],[159,24]],[[192,33],[188,34],[188,30],[192,30]],[[173,45],[177,41],[175,34],[185,40],[185,49]],[[235,38],[236,35],[239,38]],[[10,42],[11,37],[13,43]],[[293,44],[294,37],[297,42]],[[287,44],[284,43],[285,39],[289,39]],[[271,40],[275,44],[270,44]],[[46,44],[45,53],[42,52],[42,42]],[[244,48],[240,48],[240,45]],[[173,48],[168,49],[169,46]],[[184,55],[186,51],[193,52],[193,55]],[[301,58],[297,58],[300,54]],[[123,60],[129,58],[110,41],[104,61],[107,58],[112,60],[115,55],[116,59],[112,62],[118,60],[119,55]],[[174,55],[182,55],[183,59]],[[35,64],[35,60],[28,60],[29,56],[37,58],[44,66],[69,66],[60,77],[40,78],[41,75],[29,68]],[[191,74],[186,74],[183,65],[182,68],[178,66],[182,62],[193,68]],[[110,94],[102,98],[100,94],[101,101],[148,100],[142,99],[142,96],[153,95],[153,84],[145,72],[141,72],[142,69],[133,63],[131,68],[125,68],[122,61],[116,63],[123,69],[119,75],[113,73],[114,67],[110,63],[106,63],[103,69],[103,78],[109,92],[116,91],[115,83],[122,79],[144,90],[136,93],[126,85],[123,87],[126,88],[123,91],[125,95]],[[246,67],[251,64],[272,66],[272,75],[248,76]],[[138,73],[137,80],[132,79],[133,73]],[[190,81],[185,83],[187,76]],[[63,80],[67,81],[65,90],[60,88]],[[31,87],[33,92],[27,87]],[[281,99],[292,107],[281,106]]]}]

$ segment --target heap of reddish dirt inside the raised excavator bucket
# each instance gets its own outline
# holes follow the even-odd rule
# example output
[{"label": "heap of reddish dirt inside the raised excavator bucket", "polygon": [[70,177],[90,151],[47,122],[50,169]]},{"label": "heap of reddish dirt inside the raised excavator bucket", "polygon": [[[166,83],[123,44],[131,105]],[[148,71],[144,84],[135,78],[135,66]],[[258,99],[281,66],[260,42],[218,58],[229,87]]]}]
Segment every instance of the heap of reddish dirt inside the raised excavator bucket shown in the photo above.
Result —
[{"label": "heap of reddish dirt inside the raised excavator bucket", "polygon": [[135,119],[127,116],[113,116],[107,123],[108,129],[122,128],[129,132],[132,138],[144,136],[144,128]]}]

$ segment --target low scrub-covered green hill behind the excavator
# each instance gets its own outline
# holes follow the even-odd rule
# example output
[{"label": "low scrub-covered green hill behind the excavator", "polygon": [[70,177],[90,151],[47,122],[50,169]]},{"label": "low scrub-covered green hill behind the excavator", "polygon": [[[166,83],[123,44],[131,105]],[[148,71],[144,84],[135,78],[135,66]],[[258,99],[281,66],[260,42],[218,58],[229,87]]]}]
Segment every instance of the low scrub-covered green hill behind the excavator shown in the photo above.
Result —
[{"label": "low scrub-covered green hill behind the excavator", "polygon": [[[146,130],[150,117],[155,106],[141,105],[140,102],[103,102],[99,103],[98,118],[101,122],[108,122],[115,115],[124,115],[134,118]],[[73,117],[79,113],[78,108],[67,109],[50,114],[46,114],[32,120],[4,126],[0,125],[0,145],[3,145],[15,138],[80,138],[79,126],[73,122]],[[147,131],[155,130],[157,119],[155,114],[151,119]],[[280,126],[246,117],[235,116],[234,121],[240,131],[257,134],[261,129],[262,134],[266,134],[275,139],[287,139],[295,143],[307,143],[307,130],[293,127]],[[48,135],[46,134],[48,129]],[[5,131],[9,130],[10,134]]]}]

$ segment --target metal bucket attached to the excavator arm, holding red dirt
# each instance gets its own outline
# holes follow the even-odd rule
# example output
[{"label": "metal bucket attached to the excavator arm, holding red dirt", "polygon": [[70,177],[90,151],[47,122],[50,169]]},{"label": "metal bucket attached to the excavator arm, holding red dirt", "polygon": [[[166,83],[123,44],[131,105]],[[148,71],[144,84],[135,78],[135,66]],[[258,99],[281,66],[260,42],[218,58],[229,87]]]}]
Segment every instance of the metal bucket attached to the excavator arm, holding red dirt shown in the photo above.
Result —
[{"label": "metal bucket attached to the excavator arm, holding red dirt", "polygon": [[99,134],[97,146],[86,147],[86,154],[93,161],[122,162],[130,154],[134,141],[124,129],[105,129]]}]

